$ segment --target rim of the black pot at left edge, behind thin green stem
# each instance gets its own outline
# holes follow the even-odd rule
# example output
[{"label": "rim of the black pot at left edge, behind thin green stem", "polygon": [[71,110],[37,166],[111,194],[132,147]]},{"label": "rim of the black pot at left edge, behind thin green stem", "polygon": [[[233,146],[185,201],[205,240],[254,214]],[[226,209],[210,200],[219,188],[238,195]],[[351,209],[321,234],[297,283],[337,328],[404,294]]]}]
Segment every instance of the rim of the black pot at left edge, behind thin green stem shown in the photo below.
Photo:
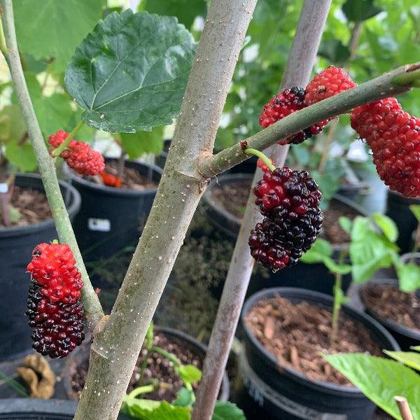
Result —
[{"label": "rim of the black pot at left edge, behind thin green stem", "polygon": [[[16,179],[37,179],[41,181],[41,190],[45,193],[45,188],[43,188],[41,175],[39,174],[25,174],[25,173],[18,173],[16,174]],[[58,180],[59,186],[65,188],[69,191],[71,198],[71,203],[69,208],[67,209],[67,213],[69,216],[74,216],[78,210],[80,209],[80,205],[82,199],[78,190],[71,186],[70,183],[63,181],[62,179]],[[65,199],[65,197],[64,197]],[[34,232],[38,232],[39,230],[44,230],[45,228],[50,228],[52,225],[55,225],[53,218],[48,218],[45,221],[40,223],[35,223],[34,225],[25,225],[25,226],[11,226],[10,228],[0,228],[0,239],[5,237],[20,237],[25,235],[31,235]]]}]

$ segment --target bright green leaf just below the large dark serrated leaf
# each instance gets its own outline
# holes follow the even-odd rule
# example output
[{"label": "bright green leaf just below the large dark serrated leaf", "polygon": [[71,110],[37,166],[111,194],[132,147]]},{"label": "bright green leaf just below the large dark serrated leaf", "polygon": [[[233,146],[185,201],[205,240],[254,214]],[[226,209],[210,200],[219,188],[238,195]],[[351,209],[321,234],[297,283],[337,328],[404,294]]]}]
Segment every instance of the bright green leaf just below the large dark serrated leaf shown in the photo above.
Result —
[{"label": "bright green leaf just below the large dark serrated leaf", "polygon": [[143,153],[158,155],[163,150],[164,127],[154,127],[150,132],[134,134],[120,133],[121,143],[130,159],[139,158]]}]

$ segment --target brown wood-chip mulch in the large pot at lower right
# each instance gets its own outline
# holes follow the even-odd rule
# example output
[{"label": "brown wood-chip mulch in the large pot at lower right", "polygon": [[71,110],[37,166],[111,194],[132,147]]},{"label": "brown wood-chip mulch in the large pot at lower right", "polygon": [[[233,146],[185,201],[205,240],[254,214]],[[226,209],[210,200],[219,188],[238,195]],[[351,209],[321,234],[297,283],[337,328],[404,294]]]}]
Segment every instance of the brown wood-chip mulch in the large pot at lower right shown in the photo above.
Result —
[{"label": "brown wood-chip mulch in the large pot at lower right", "polygon": [[365,326],[340,314],[337,339],[330,344],[331,311],[308,302],[293,304],[276,295],[260,300],[246,316],[246,325],[279,366],[302,372],[308,379],[352,386],[319,354],[370,353],[381,356]]}]

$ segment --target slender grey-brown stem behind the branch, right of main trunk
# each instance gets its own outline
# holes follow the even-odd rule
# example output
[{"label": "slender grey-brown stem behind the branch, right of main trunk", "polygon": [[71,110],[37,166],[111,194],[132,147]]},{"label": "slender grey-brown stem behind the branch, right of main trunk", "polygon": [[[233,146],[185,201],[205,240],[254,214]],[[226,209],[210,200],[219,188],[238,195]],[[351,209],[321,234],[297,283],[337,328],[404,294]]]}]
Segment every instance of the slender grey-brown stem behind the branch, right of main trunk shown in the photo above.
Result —
[{"label": "slender grey-brown stem behind the branch, right of main trunk", "polygon": [[[286,87],[304,86],[308,83],[329,9],[330,1],[306,0],[304,2],[286,69],[283,72],[279,87],[280,92]],[[306,127],[300,127],[300,130],[302,128]],[[274,143],[276,142],[273,141],[272,144]],[[288,147],[288,145],[279,146],[276,144],[267,151],[279,167],[283,167],[286,161]],[[255,196],[253,195],[253,187],[261,177],[262,172],[257,169],[230,261],[216,321],[211,331],[209,348],[204,360],[202,380],[193,408],[193,420],[211,419],[223,372],[226,363],[228,363],[230,348],[253,270],[254,260],[249,252],[248,237],[251,229],[261,219],[258,207],[254,204]]]}]

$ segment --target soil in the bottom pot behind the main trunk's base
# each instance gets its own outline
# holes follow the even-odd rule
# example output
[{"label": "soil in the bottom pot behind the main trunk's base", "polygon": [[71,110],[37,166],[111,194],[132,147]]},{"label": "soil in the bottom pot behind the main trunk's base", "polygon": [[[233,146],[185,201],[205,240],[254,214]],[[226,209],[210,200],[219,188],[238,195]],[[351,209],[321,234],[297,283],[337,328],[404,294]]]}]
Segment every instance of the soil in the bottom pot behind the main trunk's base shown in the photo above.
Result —
[{"label": "soil in the bottom pot behind the main trunk's base", "polygon": [[[165,335],[162,332],[155,332],[153,337],[153,344],[159,346],[161,349],[174,354],[183,365],[195,365],[200,370],[202,369],[203,355],[197,352],[192,346],[189,346],[187,342],[173,335]],[[147,350],[142,348],[140,356],[137,360],[136,367],[130,379],[130,384],[127,388],[127,393],[137,388],[140,378],[140,366],[143,363],[144,357],[146,356]],[[89,359],[86,359],[81,365],[76,367],[76,372],[71,377],[71,386],[73,391],[80,395],[85,386],[85,379],[87,369],[89,367]],[[174,365],[167,358],[161,356],[158,353],[152,353],[152,356],[147,360],[147,367],[144,372],[143,384],[150,381],[150,379],[158,379],[160,388],[153,393],[147,393],[143,395],[143,398],[148,400],[166,400],[171,402],[176,398],[176,393],[179,388],[183,386],[183,382],[179,379],[179,376],[174,371]],[[193,388],[196,385],[193,384]]]}]

